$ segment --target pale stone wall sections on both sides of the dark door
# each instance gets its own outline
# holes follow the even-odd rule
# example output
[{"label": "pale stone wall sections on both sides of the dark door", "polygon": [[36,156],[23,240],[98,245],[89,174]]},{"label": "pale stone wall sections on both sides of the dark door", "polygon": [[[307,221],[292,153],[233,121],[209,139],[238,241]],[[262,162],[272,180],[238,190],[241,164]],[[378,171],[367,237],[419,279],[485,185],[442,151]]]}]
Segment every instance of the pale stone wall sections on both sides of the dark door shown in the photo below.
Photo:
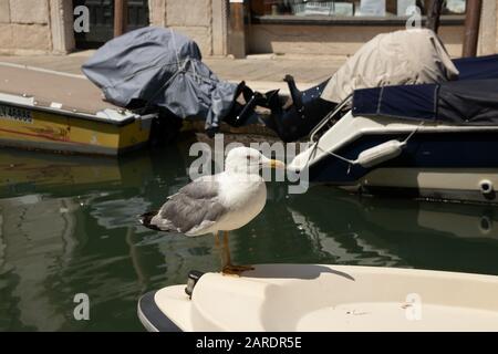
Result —
[{"label": "pale stone wall sections on both sides of the dark door", "polygon": [[[226,53],[226,0],[148,0],[151,24],[193,38],[204,55]],[[0,0],[0,54],[74,50],[72,0]]]}]

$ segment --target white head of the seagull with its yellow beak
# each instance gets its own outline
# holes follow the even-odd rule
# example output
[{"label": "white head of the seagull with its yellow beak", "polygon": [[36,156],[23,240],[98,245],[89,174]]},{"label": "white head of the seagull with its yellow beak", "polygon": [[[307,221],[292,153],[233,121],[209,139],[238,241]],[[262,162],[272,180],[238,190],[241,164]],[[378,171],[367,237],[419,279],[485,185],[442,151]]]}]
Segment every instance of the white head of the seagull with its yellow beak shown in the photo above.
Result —
[{"label": "white head of the seagull with its yellow beak", "polygon": [[225,160],[225,170],[238,174],[259,174],[261,168],[286,168],[282,162],[270,159],[251,147],[231,149]]}]

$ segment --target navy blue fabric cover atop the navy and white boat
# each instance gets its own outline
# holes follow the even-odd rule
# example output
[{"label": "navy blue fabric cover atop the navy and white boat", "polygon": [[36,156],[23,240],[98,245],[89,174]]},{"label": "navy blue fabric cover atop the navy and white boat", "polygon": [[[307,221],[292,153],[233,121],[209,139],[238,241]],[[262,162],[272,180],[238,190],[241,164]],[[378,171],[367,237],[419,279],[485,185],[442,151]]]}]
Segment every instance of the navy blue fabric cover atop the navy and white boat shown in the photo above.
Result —
[{"label": "navy blue fabric cover atop the navy and white boat", "polygon": [[498,55],[456,60],[458,81],[356,90],[354,116],[498,125]]}]

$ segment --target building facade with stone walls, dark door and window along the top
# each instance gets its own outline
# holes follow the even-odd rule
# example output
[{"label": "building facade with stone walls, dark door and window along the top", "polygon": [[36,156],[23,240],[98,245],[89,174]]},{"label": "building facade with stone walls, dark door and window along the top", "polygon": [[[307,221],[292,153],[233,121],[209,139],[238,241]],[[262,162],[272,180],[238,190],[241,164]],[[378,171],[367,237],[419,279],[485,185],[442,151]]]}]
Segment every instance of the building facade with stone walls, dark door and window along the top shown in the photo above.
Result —
[{"label": "building facade with stone walls, dark door and window along the top", "polygon": [[[468,0],[475,1],[475,0]],[[69,53],[97,48],[114,34],[112,0],[0,0],[0,54]],[[169,27],[193,38],[204,55],[351,55],[382,32],[404,29],[406,10],[424,17],[429,0],[125,0],[127,29]],[[90,32],[74,31],[89,9]],[[479,54],[498,52],[498,6],[483,1]],[[465,0],[446,0],[439,34],[461,54]]]}]

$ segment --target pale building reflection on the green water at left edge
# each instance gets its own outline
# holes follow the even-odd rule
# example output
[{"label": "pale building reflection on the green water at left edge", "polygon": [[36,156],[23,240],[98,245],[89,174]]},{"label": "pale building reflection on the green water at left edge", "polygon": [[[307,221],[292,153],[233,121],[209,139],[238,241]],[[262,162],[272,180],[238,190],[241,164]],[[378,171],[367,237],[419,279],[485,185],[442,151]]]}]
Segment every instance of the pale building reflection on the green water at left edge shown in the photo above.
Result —
[{"label": "pale building reflection on the green water at left edge", "polygon": [[76,209],[71,199],[44,200],[40,195],[0,200],[1,274],[12,281],[10,296],[15,299],[19,321],[24,325],[54,331],[64,322],[45,280],[53,269],[72,260],[77,247],[73,237]]}]

